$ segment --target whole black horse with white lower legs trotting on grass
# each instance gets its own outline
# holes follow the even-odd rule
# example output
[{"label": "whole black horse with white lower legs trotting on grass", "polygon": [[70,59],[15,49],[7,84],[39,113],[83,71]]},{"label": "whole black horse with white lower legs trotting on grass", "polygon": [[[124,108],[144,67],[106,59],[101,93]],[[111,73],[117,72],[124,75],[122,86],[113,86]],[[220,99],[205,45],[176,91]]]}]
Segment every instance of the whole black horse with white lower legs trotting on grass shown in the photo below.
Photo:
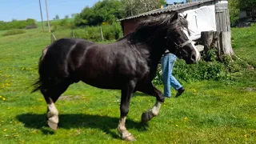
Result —
[{"label": "whole black horse with white lower legs trotting on grass", "polygon": [[41,90],[48,105],[48,125],[58,127],[58,97],[74,82],[86,82],[102,89],[121,90],[121,117],[118,133],[133,141],[126,130],[126,116],[131,94],[141,91],[156,97],[154,107],[142,114],[142,122],[158,115],[165,98],[155,88],[158,62],[165,50],[170,50],[186,63],[200,58],[188,36],[188,22],[177,11],[149,16],[138,23],[137,29],[118,42],[95,44],[82,39],[59,39],[48,46],[40,58],[38,81],[34,91]]}]

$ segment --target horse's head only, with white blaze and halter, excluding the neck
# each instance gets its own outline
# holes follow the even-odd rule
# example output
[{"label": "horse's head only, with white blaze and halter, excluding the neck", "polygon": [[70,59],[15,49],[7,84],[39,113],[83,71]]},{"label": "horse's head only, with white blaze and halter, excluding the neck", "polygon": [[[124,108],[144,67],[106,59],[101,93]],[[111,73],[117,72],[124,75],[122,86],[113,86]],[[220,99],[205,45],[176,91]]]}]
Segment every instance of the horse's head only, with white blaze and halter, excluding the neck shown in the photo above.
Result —
[{"label": "horse's head only, with white blaze and halter, excluding the neck", "polygon": [[166,48],[188,64],[198,62],[200,53],[190,40],[186,16],[183,18],[177,11],[171,11],[170,16],[166,32]]}]

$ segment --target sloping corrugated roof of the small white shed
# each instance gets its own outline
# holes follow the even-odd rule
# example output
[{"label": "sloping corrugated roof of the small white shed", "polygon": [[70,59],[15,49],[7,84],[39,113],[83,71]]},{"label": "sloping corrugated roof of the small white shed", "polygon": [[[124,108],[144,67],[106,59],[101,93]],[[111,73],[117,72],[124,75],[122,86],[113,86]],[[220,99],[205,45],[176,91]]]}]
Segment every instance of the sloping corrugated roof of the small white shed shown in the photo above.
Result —
[{"label": "sloping corrugated roof of the small white shed", "polygon": [[201,1],[197,1],[197,2],[188,2],[188,3],[185,3],[185,4],[178,4],[178,5],[174,5],[174,6],[166,6],[166,7],[161,8],[161,9],[151,10],[151,11],[148,11],[146,13],[134,15],[134,16],[131,16],[131,17],[128,17],[128,18],[118,19],[118,21],[120,22],[120,21],[124,21],[124,20],[128,20],[128,19],[145,17],[147,15],[162,14],[162,13],[170,12],[171,10],[182,10],[182,9],[185,9],[187,7],[190,7],[190,6],[197,6],[197,5],[200,5],[200,4],[205,3],[205,2],[213,2],[213,1],[215,1],[215,0],[201,0]]}]

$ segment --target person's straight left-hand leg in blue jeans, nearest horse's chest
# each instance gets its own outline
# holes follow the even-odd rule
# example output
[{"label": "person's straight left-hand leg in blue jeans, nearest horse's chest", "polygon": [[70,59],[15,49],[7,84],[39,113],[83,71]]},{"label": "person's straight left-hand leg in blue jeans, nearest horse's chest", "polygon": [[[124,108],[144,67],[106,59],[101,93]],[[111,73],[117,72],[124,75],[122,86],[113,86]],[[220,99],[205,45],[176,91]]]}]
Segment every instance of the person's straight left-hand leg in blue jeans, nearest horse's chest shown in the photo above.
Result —
[{"label": "person's straight left-hand leg in blue jeans, nearest horse's chest", "polygon": [[162,57],[162,82],[163,94],[165,97],[170,97],[170,54]]}]

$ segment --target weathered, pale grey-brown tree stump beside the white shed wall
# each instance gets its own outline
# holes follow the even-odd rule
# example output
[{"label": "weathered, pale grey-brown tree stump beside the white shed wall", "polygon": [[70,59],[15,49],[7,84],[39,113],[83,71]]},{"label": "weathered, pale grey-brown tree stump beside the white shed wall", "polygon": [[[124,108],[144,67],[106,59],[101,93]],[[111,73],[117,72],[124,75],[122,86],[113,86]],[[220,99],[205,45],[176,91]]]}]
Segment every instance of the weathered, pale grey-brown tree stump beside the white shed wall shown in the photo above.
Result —
[{"label": "weathered, pale grey-brown tree stump beside the white shed wall", "polygon": [[224,55],[232,56],[234,51],[231,46],[231,34],[230,32],[220,31],[203,31],[201,33],[201,42],[204,46],[204,53],[206,57],[210,57],[210,50],[216,52],[217,60],[223,61]]}]

